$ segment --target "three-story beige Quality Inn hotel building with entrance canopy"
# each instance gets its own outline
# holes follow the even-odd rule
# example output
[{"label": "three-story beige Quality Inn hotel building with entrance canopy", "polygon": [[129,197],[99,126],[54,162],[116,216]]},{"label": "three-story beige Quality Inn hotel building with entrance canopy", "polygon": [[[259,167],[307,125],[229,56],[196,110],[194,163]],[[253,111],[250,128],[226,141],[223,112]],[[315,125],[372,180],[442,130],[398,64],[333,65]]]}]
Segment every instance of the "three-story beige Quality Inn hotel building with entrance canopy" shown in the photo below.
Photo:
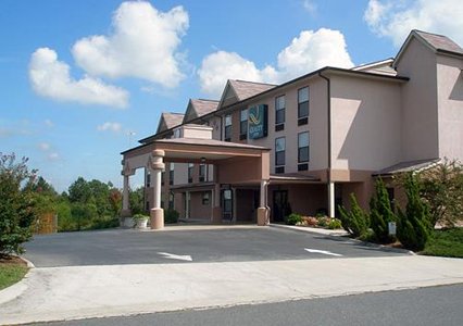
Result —
[{"label": "three-story beige Quality Inn hotel building with entrance canopy", "polygon": [[463,159],[462,70],[455,42],[412,30],[396,58],[281,85],[228,80],[220,100],[163,113],[122,152],[123,214],[137,168],[152,218],[162,208],[214,223],[335,216],[351,192],[366,209],[376,176]]}]

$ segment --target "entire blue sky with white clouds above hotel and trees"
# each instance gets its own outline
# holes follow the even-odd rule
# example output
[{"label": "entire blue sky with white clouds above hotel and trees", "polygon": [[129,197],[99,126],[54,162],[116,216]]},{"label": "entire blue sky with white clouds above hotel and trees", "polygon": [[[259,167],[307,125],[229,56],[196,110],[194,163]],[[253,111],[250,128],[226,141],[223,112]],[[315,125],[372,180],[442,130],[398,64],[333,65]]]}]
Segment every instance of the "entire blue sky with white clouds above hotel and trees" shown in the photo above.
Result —
[{"label": "entire blue sky with white clouds above hotel and trees", "polygon": [[121,187],[120,153],[162,112],[220,99],[228,78],[279,84],[392,58],[413,28],[463,46],[463,5],[1,0],[0,152],[28,158],[59,191],[79,176]]}]

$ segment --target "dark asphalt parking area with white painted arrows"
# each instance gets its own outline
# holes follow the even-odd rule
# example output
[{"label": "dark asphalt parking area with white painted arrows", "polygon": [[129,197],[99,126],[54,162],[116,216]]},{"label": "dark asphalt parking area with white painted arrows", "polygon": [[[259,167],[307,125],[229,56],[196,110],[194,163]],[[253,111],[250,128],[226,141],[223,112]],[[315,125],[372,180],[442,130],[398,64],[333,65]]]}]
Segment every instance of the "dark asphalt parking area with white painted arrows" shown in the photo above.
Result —
[{"label": "dark asphalt parking area with white painted arrows", "polygon": [[373,258],[409,253],[343,237],[275,227],[162,231],[110,229],[35,236],[25,258],[37,267]]}]

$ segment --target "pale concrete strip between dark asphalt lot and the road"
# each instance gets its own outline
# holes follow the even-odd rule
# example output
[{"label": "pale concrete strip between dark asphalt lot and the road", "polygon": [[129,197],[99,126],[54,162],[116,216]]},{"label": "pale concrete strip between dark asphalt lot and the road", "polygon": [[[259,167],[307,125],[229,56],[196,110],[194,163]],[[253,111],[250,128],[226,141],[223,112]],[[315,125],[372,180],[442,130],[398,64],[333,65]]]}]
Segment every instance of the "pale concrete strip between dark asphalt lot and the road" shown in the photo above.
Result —
[{"label": "pale concrete strip between dark asphalt lot and the road", "polygon": [[[388,256],[34,268],[0,324],[278,302],[463,283],[463,260]],[[0,292],[1,301],[1,292]]]}]

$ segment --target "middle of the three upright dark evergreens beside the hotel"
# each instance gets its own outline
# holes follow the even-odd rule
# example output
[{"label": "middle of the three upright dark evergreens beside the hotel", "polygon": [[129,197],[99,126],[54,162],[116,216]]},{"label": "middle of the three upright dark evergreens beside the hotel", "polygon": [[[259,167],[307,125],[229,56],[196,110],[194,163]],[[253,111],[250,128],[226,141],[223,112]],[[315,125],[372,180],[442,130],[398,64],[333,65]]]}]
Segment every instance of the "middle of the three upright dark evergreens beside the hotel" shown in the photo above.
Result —
[{"label": "middle of the three upright dark evergreens beside the hotel", "polygon": [[397,222],[397,216],[390,205],[389,195],[381,178],[375,183],[375,193],[370,200],[370,222],[376,239],[379,242],[390,242],[389,222]]}]

